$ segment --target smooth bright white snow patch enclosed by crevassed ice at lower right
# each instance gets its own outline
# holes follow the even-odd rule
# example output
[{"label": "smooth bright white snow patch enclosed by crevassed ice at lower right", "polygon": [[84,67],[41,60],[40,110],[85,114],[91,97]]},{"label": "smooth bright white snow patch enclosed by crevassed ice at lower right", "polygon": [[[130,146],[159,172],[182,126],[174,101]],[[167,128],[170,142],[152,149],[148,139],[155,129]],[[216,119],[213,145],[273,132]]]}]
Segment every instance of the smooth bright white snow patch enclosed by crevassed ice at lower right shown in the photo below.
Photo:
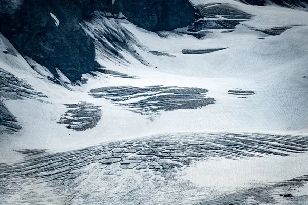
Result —
[{"label": "smooth bright white snow patch enclosed by crevassed ice at lower right", "polygon": [[213,159],[204,161],[196,167],[189,167],[183,179],[224,191],[258,187],[307,174],[307,158],[307,154],[294,154],[287,158],[264,156],[239,160]]}]

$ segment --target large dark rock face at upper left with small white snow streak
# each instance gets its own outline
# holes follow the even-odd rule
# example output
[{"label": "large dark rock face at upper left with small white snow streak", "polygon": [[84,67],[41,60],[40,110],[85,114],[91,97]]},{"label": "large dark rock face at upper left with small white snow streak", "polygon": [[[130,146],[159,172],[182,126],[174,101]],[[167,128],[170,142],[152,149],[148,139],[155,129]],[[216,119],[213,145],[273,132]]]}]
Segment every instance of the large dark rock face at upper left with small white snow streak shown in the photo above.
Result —
[{"label": "large dark rock face at upper left with small white snow streak", "polygon": [[75,81],[94,70],[94,45],[79,25],[85,9],[82,2],[22,1],[11,13],[2,10],[0,31],[22,55]]}]

